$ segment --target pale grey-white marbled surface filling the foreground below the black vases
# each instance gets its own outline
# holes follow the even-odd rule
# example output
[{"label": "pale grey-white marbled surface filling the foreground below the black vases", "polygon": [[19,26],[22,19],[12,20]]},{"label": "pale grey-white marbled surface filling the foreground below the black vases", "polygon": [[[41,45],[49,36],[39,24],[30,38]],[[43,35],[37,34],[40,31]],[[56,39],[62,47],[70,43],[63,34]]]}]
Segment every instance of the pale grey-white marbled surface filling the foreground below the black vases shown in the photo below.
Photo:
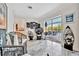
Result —
[{"label": "pale grey-white marbled surface filling the foreground below the black vases", "polygon": [[50,40],[34,40],[27,42],[28,55],[31,56],[77,56],[79,53],[64,49],[61,44]]}]

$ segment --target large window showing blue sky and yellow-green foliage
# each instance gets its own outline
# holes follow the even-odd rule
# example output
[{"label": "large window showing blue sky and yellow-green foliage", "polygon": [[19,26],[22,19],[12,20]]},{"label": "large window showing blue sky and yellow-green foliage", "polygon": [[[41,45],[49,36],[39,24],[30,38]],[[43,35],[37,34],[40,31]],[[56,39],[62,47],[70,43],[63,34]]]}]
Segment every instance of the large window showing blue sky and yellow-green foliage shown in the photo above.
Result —
[{"label": "large window showing blue sky and yellow-green foliage", "polygon": [[45,32],[47,32],[48,35],[56,35],[57,33],[61,32],[62,29],[62,19],[60,16],[45,21]]}]

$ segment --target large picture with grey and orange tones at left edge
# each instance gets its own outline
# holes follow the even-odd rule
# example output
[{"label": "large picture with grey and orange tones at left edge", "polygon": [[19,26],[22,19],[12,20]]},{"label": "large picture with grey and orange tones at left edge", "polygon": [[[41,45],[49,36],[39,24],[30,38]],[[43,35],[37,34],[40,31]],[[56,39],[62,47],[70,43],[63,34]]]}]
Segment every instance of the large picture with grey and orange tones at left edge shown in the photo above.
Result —
[{"label": "large picture with grey and orange tones at left edge", "polygon": [[7,5],[0,3],[0,29],[7,29]]}]

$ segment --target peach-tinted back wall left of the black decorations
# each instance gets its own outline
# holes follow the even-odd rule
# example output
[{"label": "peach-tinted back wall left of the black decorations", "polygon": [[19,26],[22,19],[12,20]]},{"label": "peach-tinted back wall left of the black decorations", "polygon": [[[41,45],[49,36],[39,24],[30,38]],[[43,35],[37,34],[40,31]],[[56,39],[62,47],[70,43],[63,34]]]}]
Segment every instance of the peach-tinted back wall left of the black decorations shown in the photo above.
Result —
[{"label": "peach-tinted back wall left of the black decorations", "polygon": [[[26,22],[25,22],[25,18],[19,17],[19,16],[15,16],[14,17],[14,29],[13,31],[17,31],[20,32],[24,35],[27,35],[27,28],[26,28]],[[18,30],[16,30],[16,24],[18,24]]]}]

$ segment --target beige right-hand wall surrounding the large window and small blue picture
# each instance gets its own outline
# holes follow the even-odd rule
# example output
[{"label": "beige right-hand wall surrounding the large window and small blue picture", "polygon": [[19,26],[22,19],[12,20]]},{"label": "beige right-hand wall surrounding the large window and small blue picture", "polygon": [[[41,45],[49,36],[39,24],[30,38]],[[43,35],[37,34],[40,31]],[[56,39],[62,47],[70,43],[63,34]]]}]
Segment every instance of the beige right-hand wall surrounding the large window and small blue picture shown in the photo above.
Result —
[{"label": "beige right-hand wall surrounding the large window and small blue picture", "polygon": [[[68,4],[68,3],[65,3],[65,4],[61,4],[59,7],[55,8],[54,10],[51,10],[50,12],[48,12],[47,14],[43,15],[42,17],[40,17],[40,21],[42,23],[42,25],[44,26],[44,21],[47,20],[47,19],[52,19],[54,18],[55,16],[58,16],[58,15],[61,15],[62,17],[62,22],[63,22],[63,26],[64,26],[64,29],[67,25],[69,25],[74,33],[74,36],[75,36],[75,42],[74,42],[74,46],[73,46],[73,49],[75,51],[79,51],[79,4]],[[65,22],[65,16],[68,15],[68,14],[71,14],[73,13],[74,14],[74,21],[72,23],[66,23]],[[64,30],[63,30],[64,32]],[[62,45],[63,45],[63,34],[62,34]]]}]

